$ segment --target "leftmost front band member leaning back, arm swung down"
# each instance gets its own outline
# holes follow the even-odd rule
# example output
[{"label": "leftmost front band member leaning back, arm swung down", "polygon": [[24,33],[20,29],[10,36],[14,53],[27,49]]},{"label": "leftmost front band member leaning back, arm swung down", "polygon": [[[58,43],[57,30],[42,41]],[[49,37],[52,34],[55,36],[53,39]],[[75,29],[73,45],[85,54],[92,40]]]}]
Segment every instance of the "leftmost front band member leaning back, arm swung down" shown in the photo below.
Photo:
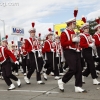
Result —
[{"label": "leftmost front band member leaning back, arm swung down", "polygon": [[17,82],[18,87],[21,86],[21,81],[18,79],[15,75],[12,74],[11,71],[11,60],[14,61],[15,64],[19,64],[13,53],[8,50],[7,48],[7,39],[4,37],[1,40],[1,46],[0,46],[0,64],[2,66],[2,75],[6,82],[6,84],[9,86],[8,90],[15,89],[15,85],[12,83],[10,79],[13,79]]}]

